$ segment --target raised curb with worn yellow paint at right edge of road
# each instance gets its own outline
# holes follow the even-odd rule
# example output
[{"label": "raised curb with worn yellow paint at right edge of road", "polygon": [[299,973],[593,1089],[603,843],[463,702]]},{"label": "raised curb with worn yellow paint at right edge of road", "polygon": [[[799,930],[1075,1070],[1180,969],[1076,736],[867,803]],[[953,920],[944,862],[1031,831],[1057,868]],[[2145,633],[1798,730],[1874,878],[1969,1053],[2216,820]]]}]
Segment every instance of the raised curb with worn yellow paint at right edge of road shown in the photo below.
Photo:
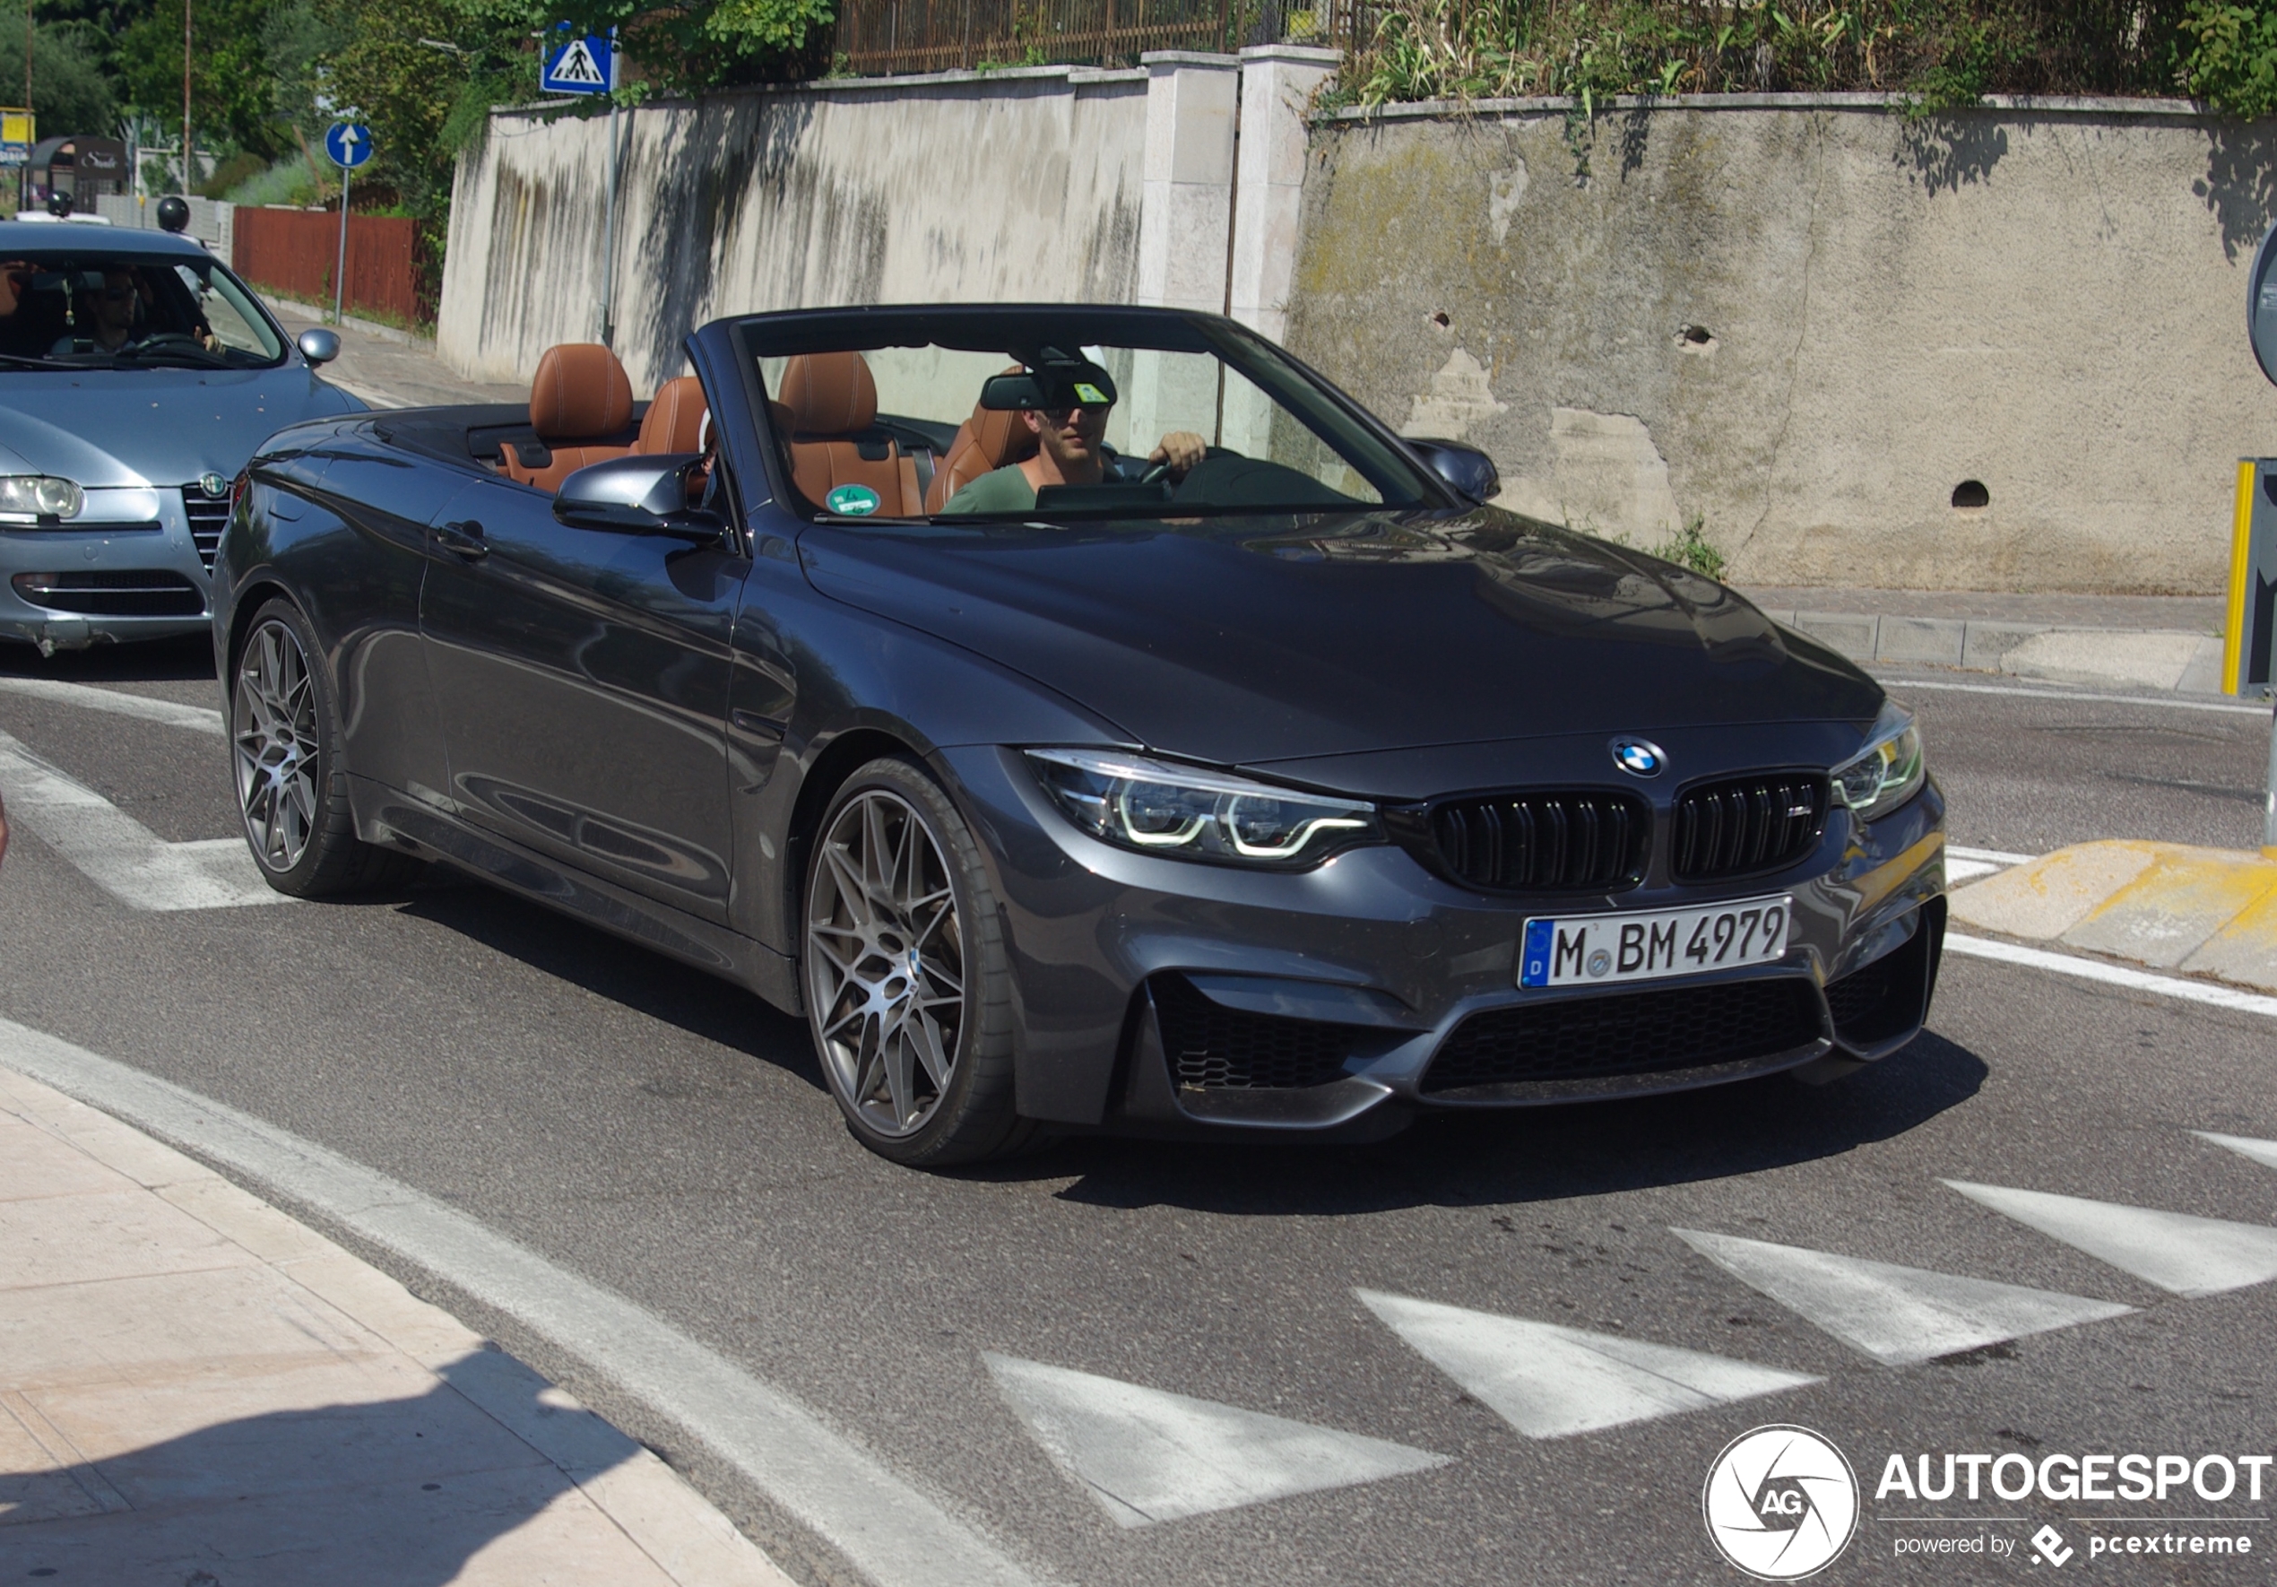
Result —
[{"label": "raised curb with worn yellow paint at right edge of road", "polygon": [[2277,849],[2079,842],[1949,899],[1979,931],[2277,993]]}]

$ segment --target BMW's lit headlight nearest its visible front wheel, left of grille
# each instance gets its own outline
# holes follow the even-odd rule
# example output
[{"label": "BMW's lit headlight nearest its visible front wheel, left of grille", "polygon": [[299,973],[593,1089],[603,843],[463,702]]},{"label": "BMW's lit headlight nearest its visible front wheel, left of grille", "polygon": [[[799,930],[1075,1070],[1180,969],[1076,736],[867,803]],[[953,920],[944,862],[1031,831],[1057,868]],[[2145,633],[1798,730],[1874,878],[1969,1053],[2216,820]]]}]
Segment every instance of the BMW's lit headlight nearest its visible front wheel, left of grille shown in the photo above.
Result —
[{"label": "BMW's lit headlight nearest its visible front wheel, left of grille", "polygon": [[1029,749],[1027,763],[1077,829],[1141,854],[1305,870],[1384,836],[1364,799],[1275,788],[1198,765],[1113,749]]}]

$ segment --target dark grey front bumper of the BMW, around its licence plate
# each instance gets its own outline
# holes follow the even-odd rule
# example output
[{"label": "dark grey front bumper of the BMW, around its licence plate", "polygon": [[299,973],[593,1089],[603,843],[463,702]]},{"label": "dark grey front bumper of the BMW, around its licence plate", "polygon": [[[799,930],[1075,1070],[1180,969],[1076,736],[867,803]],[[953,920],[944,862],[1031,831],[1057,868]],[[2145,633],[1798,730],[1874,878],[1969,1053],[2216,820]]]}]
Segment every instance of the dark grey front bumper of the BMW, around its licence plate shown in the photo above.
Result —
[{"label": "dark grey front bumper of the BMW, around its licence plate", "polygon": [[[1655,856],[1642,886],[1610,897],[1489,897],[1398,847],[1302,874],[1129,854],[1063,822],[1016,751],[943,760],[1006,911],[1029,1118],[1371,1136],[1423,1109],[1817,1077],[1888,1056],[1929,1013],[1945,931],[1933,781],[1865,829],[1835,811],[1785,872],[1674,886]],[[1528,915],[1762,893],[1794,899],[1778,963],[1617,990],[1516,986]]]}]

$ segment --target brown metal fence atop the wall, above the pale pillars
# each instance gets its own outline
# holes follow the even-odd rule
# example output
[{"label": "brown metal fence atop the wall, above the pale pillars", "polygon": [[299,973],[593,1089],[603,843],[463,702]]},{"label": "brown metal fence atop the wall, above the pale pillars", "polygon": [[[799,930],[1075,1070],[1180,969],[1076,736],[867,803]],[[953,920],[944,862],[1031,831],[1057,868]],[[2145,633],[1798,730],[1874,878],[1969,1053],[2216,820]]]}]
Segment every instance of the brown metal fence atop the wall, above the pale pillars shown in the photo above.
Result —
[{"label": "brown metal fence atop the wall, above the pale pillars", "polygon": [[836,50],[870,75],[1123,66],[1148,50],[1346,43],[1362,0],[842,0]]}]

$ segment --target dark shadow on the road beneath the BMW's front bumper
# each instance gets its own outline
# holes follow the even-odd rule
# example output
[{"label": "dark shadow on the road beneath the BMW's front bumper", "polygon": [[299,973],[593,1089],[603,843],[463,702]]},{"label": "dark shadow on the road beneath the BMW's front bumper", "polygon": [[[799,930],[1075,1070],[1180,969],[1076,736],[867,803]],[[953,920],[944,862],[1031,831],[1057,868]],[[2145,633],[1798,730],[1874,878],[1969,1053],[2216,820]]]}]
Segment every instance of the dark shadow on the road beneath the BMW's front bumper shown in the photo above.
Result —
[{"label": "dark shadow on the road beneath the BMW's front bumper", "polygon": [[1567,1200],[1840,1157],[1967,1102],[1983,1059],[1935,1034],[1831,1086],[1783,1075],[1630,1102],[1435,1113],[1373,1145],[1075,1138],[986,1177],[1066,1177],[1063,1200],[1230,1216]]}]

